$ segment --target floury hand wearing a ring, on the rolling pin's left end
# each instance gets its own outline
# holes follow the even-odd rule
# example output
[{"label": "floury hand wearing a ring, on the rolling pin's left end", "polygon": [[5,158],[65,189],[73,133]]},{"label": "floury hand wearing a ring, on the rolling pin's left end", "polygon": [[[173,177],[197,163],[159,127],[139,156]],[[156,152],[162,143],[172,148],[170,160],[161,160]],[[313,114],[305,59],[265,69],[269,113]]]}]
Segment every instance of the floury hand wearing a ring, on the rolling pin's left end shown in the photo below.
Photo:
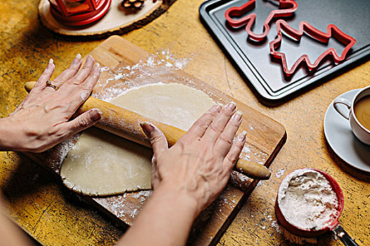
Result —
[{"label": "floury hand wearing a ring, on the rolling pin's left end", "polygon": [[0,119],[0,150],[42,152],[99,121],[99,109],[70,120],[90,96],[100,76],[99,64],[94,63],[92,56],[87,57],[79,70],[81,63],[78,54],[70,67],[51,82],[56,90],[47,86],[55,68],[50,60],[23,103],[11,115]]}]

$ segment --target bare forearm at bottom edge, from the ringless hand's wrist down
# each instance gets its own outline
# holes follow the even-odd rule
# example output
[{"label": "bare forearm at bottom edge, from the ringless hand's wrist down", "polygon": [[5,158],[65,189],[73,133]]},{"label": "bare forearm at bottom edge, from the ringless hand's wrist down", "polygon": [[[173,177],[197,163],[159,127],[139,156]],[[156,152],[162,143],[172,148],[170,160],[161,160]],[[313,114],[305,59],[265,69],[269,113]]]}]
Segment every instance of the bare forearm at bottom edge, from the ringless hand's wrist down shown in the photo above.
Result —
[{"label": "bare forearm at bottom edge, from the ringless hand's wrist down", "polygon": [[187,195],[156,190],[118,246],[185,245],[196,216],[197,204]]}]

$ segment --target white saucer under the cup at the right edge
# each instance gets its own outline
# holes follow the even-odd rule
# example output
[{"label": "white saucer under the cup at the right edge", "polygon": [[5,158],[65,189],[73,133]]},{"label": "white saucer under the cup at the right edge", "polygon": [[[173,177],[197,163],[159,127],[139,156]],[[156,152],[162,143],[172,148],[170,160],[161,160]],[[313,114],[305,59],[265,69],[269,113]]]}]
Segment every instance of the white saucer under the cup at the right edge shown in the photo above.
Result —
[{"label": "white saucer under the cup at the right edge", "polygon": [[[359,89],[347,91],[338,98],[343,97],[352,101],[357,91]],[[339,115],[333,107],[333,102],[329,105],[323,118],[323,132],[326,141],[342,160],[362,171],[370,171],[370,145],[362,143],[354,136],[350,122]]]}]

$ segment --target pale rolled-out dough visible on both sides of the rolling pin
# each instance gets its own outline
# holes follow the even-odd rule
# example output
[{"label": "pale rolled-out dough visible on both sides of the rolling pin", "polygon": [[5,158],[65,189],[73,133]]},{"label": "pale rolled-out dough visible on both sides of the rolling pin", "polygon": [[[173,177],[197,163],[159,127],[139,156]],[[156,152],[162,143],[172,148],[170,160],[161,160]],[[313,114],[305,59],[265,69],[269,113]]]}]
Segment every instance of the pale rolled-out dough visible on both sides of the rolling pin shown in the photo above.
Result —
[{"label": "pale rolled-out dough visible on both sides of the rolling pin", "polygon": [[[214,105],[202,91],[175,83],[130,89],[111,103],[185,131]],[[68,188],[83,195],[150,189],[151,159],[151,149],[93,127],[69,151],[61,177]]]}]

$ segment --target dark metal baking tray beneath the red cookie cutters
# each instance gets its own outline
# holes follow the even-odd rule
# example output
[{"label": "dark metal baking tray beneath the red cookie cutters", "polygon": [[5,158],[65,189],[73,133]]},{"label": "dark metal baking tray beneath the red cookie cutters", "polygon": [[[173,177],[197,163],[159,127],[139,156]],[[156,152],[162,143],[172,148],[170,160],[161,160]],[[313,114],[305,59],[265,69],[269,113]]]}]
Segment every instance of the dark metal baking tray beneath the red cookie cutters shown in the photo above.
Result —
[{"label": "dark metal baking tray beneath the red cookie cutters", "polygon": [[[246,1],[204,1],[199,7],[199,15],[204,26],[233,62],[240,75],[265,104],[281,104],[292,96],[300,95],[304,88],[311,89],[312,85],[316,86],[326,82],[357,63],[369,59],[369,0],[297,0],[298,9],[295,14],[283,18],[289,25],[297,29],[299,23],[306,20],[317,29],[326,32],[328,24],[335,24],[345,34],[357,39],[357,42],[347,53],[347,58],[342,63],[335,65],[333,59],[328,57],[311,72],[306,66],[301,65],[290,77],[284,75],[281,61],[272,59],[270,56],[269,42],[276,38],[274,20],[271,22],[271,29],[266,39],[259,43],[247,39],[245,26],[235,29],[227,25],[225,11],[232,6],[241,6]],[[278,8],[278,1],[256,0],[256,8],[249,12],[257,14],[253,32],[262,33],[264,20],[270,11],[276,8]],[[300,42],[293,41],[286,36],[283,37],[279,50],[285,52],[288,66],[291,67],[302,54],[309,55],[313,62],[329,47],[334,47],[337,52],[341,53],[345,46],[334,38],[331,38],[328,44],[322,44],[305,34]]]}]

